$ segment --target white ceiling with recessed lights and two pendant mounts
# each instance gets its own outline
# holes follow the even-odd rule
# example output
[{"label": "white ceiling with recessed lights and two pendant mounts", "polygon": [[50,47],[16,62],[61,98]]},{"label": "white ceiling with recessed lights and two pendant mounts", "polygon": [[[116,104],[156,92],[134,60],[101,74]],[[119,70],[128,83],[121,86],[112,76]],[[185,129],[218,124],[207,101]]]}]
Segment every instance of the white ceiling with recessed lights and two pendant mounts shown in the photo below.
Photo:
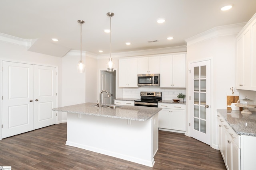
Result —
[{"label": "white ceiling with recessed lights and two pendant mounts", "polygon": [[[233,4],[229,11],[220,8]],[[256,0],[0,0],[0,33],[40,39],[95,54],[176,47],[184,39],[216,26],[247,22],[256,13]],[[166,22],[159,24],[158,18]],[[174,37],[167,40],[167,37]],[[148,41],[158,42],[148,43]],[[132,44],[127,46],[126,42]],[[98,51],[102,50],[103,53]]]}]

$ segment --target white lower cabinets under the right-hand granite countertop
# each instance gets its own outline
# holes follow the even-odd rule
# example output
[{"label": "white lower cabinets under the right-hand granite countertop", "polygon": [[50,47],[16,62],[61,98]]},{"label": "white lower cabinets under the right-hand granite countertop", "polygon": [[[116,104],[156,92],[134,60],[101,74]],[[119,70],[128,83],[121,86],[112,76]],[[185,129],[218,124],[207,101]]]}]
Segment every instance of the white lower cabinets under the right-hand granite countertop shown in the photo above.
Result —
[{"label": "white lower cabinets under the right-hand granite countertop", "polygon": [[241,170],[240,135],[228,125],[221,115],[218,116],[218,145],[227,170]]}]

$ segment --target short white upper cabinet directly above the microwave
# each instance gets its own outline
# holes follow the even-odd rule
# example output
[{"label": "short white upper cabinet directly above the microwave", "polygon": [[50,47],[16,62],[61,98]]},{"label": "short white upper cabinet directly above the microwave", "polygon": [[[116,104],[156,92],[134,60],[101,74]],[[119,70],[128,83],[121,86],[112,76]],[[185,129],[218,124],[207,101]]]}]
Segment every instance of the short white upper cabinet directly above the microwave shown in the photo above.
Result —
[{"label": "short white upper cabinet directly above the microwave", "polygon": [[159,74],[160,57],[140,57],[138,58],[138,74]]}]

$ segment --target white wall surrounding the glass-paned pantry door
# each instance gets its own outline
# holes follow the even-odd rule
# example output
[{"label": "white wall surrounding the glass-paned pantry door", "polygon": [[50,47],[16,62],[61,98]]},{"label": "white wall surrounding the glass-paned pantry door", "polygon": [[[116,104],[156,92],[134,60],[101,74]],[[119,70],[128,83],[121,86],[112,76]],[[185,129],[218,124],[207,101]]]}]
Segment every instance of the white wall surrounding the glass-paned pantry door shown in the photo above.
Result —
[{"label": "white wall surrounding the glass-paned pantry door", "polygon": [[[241,28],[236,27],[238,31]],[[227,30],[226,30],[227,31]],[[233,31],[233,29],[232,29]],[[214,32],[214,30],[213,30]],[[206,38],[187,46],[187,64],[194,61],[211,59],[211,147],[218,149],[216,109],[226,109],[226,94],[236,87],[236,35],[228,33]],[[218,34],[218,33],[216,33]],[[204,37],[206,35],[202,35]],[[200,36],[199,36],[200,37]],[[187,41],[189,42],[189,41]],[[189,90],[189,87],[188,87]],[[238,91],[238,90],[234,90]],[[245,90],[239,90],[240,98]],[[251,91],[253,98],[255,92]],[[188,112],[188,114],[190,114]]]}]

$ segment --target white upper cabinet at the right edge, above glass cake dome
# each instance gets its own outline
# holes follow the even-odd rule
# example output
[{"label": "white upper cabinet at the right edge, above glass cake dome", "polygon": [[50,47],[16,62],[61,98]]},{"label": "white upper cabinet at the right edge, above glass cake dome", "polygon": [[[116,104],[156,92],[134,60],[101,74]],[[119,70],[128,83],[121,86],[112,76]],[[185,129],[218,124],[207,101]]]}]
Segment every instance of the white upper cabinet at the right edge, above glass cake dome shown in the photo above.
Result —
[{"label": "white upper cabinet at the right edge, above glass cake dome", "polygon": [[236,41],[236,88],[256,91],[256,15],[238,33]]}]

